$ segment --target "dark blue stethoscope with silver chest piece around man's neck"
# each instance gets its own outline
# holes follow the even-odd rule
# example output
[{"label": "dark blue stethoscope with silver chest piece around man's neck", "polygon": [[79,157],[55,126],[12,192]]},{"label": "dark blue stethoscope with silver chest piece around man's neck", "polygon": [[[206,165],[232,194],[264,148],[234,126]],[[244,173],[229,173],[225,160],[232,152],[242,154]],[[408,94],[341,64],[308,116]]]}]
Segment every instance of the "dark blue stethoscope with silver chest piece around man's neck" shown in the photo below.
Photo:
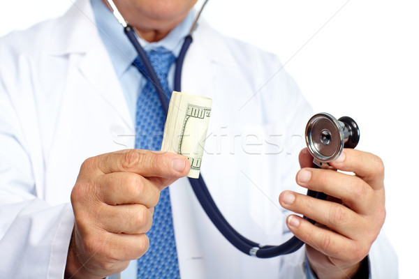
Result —
[{"label": "dark blue stethoscope with silver chest piece around man's neck", "polygon": [[[145,51],[142,49],[140,43],[138,42],[138,34],[135,32],[133,27],[131,27],[128,24],[128,22],[124,20],[124,17],[122,17],[122,15],[119,13],[113,1],[107,1],[109,6],[112,8],[112,13],[117,18],[119,23],[122,24],[126,36],[132,43],[135,50],[138,52],[138,56],[140,57],[142,63],[145,66],[145,74],[147,77],[149,77],[150,80],[152,80],[156,88],[156,92],[159,94],[159,100],[161,102],[163,112],[167,114],[169,100],[167,99],[166,94],[162,89],[159,78],[154,72],[152,63],[150,63],[149,59],[147,58],[147,55],[145,54]],[[192,43],[192,33],[196,29],[198,18],[200,17],[200,14],[202,13],[207,1],[208,0],[205,0],[205,2],[203,3],[203,6],[199,11],[198,16],[196,17],[196,20],[193,22],[193,26],[189,31],[189,35],[186,36],[186,38],[184,39],[184,43],[179,52],[179,56],[177,57],[177,60],[175,62],[175,91],[181,91],[180,85],[184,58],[186,56],[187,50],[189,49],[189,46]],[[318,126],[322,126],[325,123],[331,124],[326,129],[320,128],[321,131],[318,132]],[[354,123],[355,121],[353,121],[352,119],[351,121],[348,120],[346,122],[342,119],[337,120],[330,114],[316,114],[316,116],[313,116],[313,118],[309,121],[309,124],[307,125],[308,130],[306,129],[306,141],[309,145],[309,151],[311,153],[312,151],[316,151],[316,153],[312,153],[312,155],[314,155],[314,157],[316,158],[314,163],[316,163],[318,167],[328,167],[328,162],[334,160],[339,156],[339,154],[341,153],[341,149],[343,149],[344,145],[345,147],[350,143],[353,145],[353,133],[355,133],[355,130],[358,130],[358,126],[356,126],[356,123]],[[317,140],[318,137],[311,136],[308,138],[307,133],[309,133],[310,135],[314,135],[314,133],[321,133],[321,135],[319,135],[319,138],[323,139],[323,142],[321,140]],[[332,146],[335,146],[336,142],[337,144],[340,144],[339,150],[335,152],[333,156],[328,156],[331,144]],[[310,146],[312,147],[311,149]],[[322,149],[322,147],[325,148]],[[317,158],[316,156],[319,157]],[[277,257],[279,255],[286,255],[295,252],[296,250],[300,249],[301,246],[304,244],[304,242],[302,242],[300,239],[297,239],[296,236],[291,237],[291,239],[281,244],[280,246],[262,245],[260,243],[253,242],[245,238],[233,227],[231,227],[231,225],[223,217],[223,214],[221,213],[221,211],[219,211],[218,207],[216,206],[214,200],[211,197],[209,190],[207,189],[203,176],[200,175],[198,179],[189,178],[189,182],[191,183],[193,192],[198,198],[198,201],[200,202],[201,206],[203,207],[205,213],[207,213],[207,216],[210,218],[212,223],[214,223],[219,232],[221,232],[221,234],[223,234],[223,236],[233,246],[235,246],[235,248],[244,252],[245,254],[259,258]],[[307,190],[307,195],[309,195],[310,197],[316,197],[318,199],[326,199],[327,197],[327,195],[325,195],[324,193],[315,192],[313,190]],[[304,218],[306,217],[304,216]],[[306,219],[309,220],[312,224],[315,223],[314,220],[310,220],[309,218]]]}]

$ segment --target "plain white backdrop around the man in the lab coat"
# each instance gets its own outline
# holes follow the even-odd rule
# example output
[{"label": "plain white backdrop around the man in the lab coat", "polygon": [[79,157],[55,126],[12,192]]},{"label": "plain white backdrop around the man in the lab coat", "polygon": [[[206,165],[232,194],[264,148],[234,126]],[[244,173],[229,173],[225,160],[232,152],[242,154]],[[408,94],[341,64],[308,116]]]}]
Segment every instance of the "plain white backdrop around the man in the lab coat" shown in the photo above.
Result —
[{"label": "plain white backdrop around the man in the lab coat", "polygon": [[[71,5],[7,2],[0,35]],[[316,112],[358,122],[358,149],[385,163],[385,232],[402,279],[419,269],[418,12],[418,0],[211,0],[203,14],[221,32],[278,54]]]}]

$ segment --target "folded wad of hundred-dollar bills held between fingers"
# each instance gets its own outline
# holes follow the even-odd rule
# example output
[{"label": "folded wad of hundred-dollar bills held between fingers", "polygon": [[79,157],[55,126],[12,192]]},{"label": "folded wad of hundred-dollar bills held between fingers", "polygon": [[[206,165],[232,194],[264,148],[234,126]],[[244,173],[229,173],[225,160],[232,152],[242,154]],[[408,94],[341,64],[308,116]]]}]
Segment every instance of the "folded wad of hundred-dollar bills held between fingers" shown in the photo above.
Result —
[{"label": "folded wad of hundred-dollar bills held between fingers", "polygon": [[191,163],[188,176],[199,177],[212,100],[173,91],[164,128],[161,151],[181,154]]}]

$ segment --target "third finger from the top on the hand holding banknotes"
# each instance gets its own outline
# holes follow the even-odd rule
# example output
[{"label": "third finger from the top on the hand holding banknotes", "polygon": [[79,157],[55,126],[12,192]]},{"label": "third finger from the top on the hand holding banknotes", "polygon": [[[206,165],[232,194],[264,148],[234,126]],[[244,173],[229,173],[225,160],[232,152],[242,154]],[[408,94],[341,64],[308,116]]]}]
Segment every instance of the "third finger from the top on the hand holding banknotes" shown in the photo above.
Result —
[{"label": "third finger from the top on the hand holding banknotes", "polygon": [[116,234],[145,234],[152,227],[152,209],[142,204],[122,204],[101,208],[101,227]]}]

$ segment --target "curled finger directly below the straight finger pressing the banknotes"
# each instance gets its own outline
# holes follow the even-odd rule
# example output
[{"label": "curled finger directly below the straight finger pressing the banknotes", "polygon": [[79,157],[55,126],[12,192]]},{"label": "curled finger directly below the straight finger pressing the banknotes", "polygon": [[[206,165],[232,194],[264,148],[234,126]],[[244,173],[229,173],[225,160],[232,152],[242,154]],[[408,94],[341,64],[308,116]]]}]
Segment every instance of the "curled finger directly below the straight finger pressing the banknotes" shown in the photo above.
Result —
[{"label": "curled finger directly below the straight finger pressing the banknotes", "polygon": [[106,204],[144,204],[147,208],[159,202],[161,187],[132,172],[113,172],[101,176],[101,200]]}]

